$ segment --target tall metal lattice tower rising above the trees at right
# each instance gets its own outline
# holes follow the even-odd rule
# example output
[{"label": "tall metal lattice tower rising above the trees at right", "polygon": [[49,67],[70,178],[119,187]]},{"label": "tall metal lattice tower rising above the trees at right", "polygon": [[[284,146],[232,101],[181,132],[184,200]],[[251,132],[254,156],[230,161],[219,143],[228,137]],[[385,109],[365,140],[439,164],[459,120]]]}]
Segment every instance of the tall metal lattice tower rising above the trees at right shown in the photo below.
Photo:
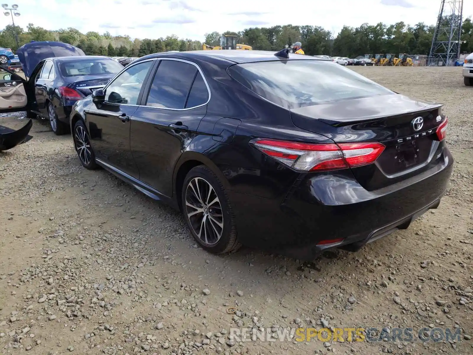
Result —
[{"label": "tall metal lattice tower rising above the trees at right", "polygon": [[463,0],[441,0],[428,65],[454,65],[460,56]]}]

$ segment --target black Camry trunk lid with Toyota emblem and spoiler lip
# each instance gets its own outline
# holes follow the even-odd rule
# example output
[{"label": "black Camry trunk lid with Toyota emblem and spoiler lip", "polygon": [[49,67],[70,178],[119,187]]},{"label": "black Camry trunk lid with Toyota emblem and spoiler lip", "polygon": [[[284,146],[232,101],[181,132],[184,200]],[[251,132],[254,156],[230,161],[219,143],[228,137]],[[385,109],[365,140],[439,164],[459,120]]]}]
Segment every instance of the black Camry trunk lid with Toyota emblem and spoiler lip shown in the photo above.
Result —
[{"label": "black Camry trunk lid with Toyota emblem and spoiler lip", "polygon": [[363,187],[374,190],[428,169],[439,149],[442,106],[390,94],[299,107],[291,117],[299,128],[336,143],[383,143],[385,150],[374,164],[352,169]]}]

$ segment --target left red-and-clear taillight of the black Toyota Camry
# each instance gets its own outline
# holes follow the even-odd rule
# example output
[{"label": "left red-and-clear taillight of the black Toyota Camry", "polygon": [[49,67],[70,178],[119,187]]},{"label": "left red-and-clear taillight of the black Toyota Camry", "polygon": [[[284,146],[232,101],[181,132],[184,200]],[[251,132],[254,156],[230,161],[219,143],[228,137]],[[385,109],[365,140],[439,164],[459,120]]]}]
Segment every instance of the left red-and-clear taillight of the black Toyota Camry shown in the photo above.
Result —
[{"label": "left red-and-clear taillight of the black Toyota Camry", "polygon": [[371,164],[385,149],[378,142],[316,144],[260,139],[253,144],[264,154],[298,171],[336,170]]}]

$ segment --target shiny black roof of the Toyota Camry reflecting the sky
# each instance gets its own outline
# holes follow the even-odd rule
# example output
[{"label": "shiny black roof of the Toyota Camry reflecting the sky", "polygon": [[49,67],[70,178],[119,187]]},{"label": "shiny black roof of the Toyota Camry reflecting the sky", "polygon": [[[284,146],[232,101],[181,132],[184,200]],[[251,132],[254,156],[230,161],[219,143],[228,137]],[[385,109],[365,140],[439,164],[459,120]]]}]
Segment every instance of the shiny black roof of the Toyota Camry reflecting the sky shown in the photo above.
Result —
[{"label": "shiny black roof of the Toyota Camry reflecting the sky", "polygon": [[[218,58],[228,62],[234,63],[251,63],[251,62],[269,62],[277,61],[278,57],[274,54],[277,52],[273,51],[243,51],[243,50],[209,50],[209,51],[188,51],[188,52],[173,52],[173,53],[154,53],[145,55],[139,60],[158,58],[158,57],[175,57],[181,59],[199,59],[205,60],[205,58]],[[324,58],[314,57],[312,55],[294,54],[289,53],[289,58],[283,58],[283,60],[322,60]],[[138,60],[137,60],[138,62]]]}]

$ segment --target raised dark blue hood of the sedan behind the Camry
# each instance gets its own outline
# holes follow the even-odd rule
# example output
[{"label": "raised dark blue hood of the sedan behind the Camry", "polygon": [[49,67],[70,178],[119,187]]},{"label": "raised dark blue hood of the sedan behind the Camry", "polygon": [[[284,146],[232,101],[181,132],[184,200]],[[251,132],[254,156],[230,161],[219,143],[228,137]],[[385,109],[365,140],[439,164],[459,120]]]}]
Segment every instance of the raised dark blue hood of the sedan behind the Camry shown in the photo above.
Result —
[{"label": "raised dark blue hood of the sedan behind the Camry", "polygon": [[23,66],[25,76],[29,78],[36,65],[43,59],[52,57],[70,57],[85,55],[82,49],[62,42],[30,42],[23,44],[17,50],[18,59]]}]

